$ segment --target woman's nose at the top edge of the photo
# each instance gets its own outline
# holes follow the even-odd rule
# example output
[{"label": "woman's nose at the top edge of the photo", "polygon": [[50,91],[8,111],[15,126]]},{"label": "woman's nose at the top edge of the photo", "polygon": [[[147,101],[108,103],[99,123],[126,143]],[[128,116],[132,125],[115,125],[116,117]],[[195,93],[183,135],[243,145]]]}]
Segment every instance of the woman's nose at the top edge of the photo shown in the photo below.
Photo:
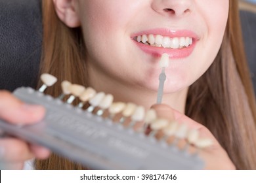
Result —
[{"label": "woman's nose at the top edge of the photo", "polygon": [[153,0],[152,8],[164,16],[184,16],[190,14],[194,0]]}]

